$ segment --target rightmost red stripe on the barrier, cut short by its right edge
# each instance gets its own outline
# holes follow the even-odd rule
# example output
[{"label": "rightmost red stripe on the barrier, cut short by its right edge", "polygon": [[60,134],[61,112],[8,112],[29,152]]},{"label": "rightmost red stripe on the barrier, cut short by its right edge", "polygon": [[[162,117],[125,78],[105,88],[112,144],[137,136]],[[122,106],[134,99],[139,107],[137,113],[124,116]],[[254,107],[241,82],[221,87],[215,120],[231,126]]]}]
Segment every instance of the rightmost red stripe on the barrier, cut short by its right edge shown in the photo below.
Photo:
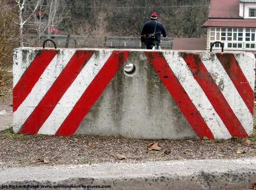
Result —
[{"label": "rightmost red stripe on the barrier, cut short by its right edge", "polygon": [[238,93],[243,98],[243,101],[247,105],[249,111],[253,114],[254,93],[234,55],[232,53],[216,53],[216,56],[228,73],[229,78],[236,86]]}]

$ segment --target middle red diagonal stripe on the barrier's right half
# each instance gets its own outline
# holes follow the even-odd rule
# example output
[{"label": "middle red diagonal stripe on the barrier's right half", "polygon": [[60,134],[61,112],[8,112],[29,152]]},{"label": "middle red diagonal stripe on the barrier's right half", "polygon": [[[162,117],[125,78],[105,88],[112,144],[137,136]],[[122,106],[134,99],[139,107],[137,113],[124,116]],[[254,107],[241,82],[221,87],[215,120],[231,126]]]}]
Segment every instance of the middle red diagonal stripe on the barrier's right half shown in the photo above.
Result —
[{"label": "middle red diagonal stripe on the barrier's right half", "polygon": [[190,68],[195,80],[201,86],[203,92],[213,105],[222,122],[227,127],[232,137],[248,137],[242,124],[229,106],[229,103],[216,85],[206,67],[203,65],[199,55],[193,53],[182,53],[183,59]]}]

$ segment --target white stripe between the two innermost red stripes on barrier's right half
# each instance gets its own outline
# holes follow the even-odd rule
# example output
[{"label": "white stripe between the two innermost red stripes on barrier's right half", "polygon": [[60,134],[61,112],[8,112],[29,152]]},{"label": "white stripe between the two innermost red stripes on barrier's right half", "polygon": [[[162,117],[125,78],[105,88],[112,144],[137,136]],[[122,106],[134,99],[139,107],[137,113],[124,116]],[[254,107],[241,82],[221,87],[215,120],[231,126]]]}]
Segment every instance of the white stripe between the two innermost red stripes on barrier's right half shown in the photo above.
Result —
[{"label": "white stripe between the two innermost red stripes on barrier's right half", "polygon": [[196,109],[202,115],[202,118],[208,125],[209,129],[214,135],[214,138],[231,138],[231,135],[229,134],[226,126],[223,124],[222,119],[216,113],[201,86],[194,79],[192,73],[190,72],[189,66],[187,66],[180,53],[163,52],[163,54],[168,62],[168,65],[171,67],[182,87],[189,95],[189,98],[195,105]]}]

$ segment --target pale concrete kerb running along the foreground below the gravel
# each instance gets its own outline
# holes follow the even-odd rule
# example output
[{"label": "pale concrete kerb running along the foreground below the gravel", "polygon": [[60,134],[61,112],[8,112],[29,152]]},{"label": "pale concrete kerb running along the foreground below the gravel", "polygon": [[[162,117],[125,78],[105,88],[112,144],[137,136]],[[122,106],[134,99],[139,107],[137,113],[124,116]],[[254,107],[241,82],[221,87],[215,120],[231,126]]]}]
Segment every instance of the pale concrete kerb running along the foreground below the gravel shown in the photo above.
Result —
[{"label": "pale concrete kerb running along the foreground below the gravel", "polygon": [[[111,186],[107,190],[230,190],[253,189],[256,157],[237,160],[187,160],[143,164],[86,164],[2,168],[0,189],[41,185]],[[25,186],[24,186],[25,185]],[[86,186],[86,188],[82,188]],[[24,188],[23,188],[24,186]],[[11,188],[8,188],[11,189]],[[58,188],[72,189],[72,188]]]}]

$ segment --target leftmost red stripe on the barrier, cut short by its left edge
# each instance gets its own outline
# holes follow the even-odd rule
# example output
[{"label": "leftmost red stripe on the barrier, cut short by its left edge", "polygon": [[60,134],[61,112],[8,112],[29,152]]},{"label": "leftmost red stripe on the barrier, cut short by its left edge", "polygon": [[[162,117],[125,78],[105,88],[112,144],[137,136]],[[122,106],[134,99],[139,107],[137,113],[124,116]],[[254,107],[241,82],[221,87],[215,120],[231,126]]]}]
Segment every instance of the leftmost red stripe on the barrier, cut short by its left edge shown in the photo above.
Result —
[{"label": "leftmost red stripe on the barrier, cut short by its left edge", "polygon": [[18,109],[57,54],[57,50],[40,50],[13,88],[13,112]]}]

